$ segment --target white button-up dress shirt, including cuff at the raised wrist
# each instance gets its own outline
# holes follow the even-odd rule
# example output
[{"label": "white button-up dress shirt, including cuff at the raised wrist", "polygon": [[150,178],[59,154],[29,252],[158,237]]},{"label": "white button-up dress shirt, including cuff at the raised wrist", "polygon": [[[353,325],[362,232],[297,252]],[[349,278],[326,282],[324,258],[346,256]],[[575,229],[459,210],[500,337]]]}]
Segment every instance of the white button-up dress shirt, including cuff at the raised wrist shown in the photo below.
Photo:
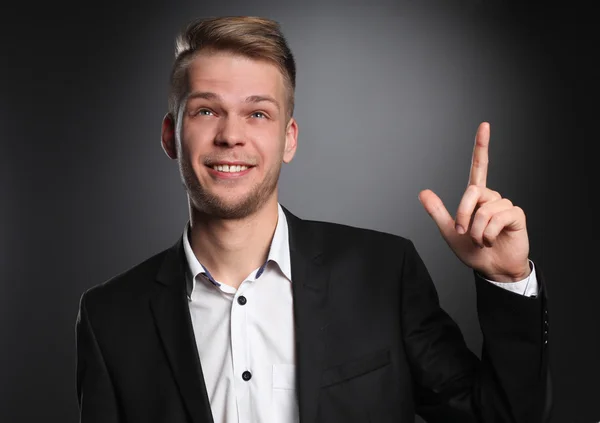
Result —
[{"label": "white button-up dress shirt, including cuff at the raised wrist", "polygon": [[[296,423],[294,320],[288,225],[278,219],[267,261],[235,288],[214,280],[183,234],[188,299],[198,355],[215,423]],[[532,272],[523,281],[499,283],[537,295]]]}]

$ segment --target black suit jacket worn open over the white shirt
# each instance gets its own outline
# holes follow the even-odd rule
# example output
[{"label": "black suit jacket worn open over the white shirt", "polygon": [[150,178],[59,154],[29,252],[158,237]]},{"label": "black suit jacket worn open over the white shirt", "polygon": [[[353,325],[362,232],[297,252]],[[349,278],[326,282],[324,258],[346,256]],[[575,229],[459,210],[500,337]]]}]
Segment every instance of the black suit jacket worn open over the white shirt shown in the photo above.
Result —
[{"label": "black suit jacket worn open over the white shirt", "polygon": [[[543,421],[550,385],[539,268],[537,298],[474,273],[479,360],[410,240],[285,213],[302,423],[412,422],[415,413],[443,423]],[[82,423],[213,422],[185,266],[180,238],[81,297]]]}]

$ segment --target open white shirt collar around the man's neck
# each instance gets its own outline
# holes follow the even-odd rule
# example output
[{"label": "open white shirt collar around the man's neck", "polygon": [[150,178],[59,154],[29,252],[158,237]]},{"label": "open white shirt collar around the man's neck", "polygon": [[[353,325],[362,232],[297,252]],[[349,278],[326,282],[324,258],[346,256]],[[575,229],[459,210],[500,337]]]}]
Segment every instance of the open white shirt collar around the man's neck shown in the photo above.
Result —
[{"label": "open white shirt collar around the man's neck", "polygon": [[[194,291],[194,281],[196,280],[196,276],[201,273],[206,274],[209,279],[213,282],[214,279],[208,272],[208,270],[202,266],[202,264],[196,258],[196,255],[192,251],[192,246],[189,240],[189,228],[190,222],[188,221],[185,225],[185,229],[183,231],[183,250],[185,252],[185,258],[187,262],[187,292],[188,295],[191,295]],[[267,256],[267,261],[264,265],[258,269],[256,273],[256,278],[258,279],[262,272],[264,271],[266,265],[270,262],[275,262],[279,266],[279,270],[283,273],[283,275],[291,282],[292,281],[292,272],[291,272],[291,263],[290,263],[290,244],[289,244],[289,234],[288,234],[288,224],[287,219],[285,217],[285,213],[280,204],[277,204],[277,226],[275,227],[275,233],[273,234],[273,239],[271,240],[271,246],[269,248],[269,254]]]}]

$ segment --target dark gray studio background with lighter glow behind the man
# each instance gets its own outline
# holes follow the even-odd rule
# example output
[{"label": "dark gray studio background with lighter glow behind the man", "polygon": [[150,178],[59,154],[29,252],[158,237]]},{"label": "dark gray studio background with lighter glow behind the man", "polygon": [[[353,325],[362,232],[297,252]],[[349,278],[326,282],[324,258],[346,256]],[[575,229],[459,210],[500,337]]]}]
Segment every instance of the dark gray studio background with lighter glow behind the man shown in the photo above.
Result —
[{"label": "dark gray studio background with lighter glow behind the man", "polygon": [[[196,16],[277,19],[298,64],[299,148],[282,204],[412,239],[479,351],[474,287],[417,194],[454,213],[477,125],[488,186],[527,214],[551,296],[553,423],[600,420],[591,268],[594,116],[585,13],[503,1],[13,4],[1,14],[0,421],[75,422],[82,292],[186,221],[160,148],[173,41]],[[588,30],[591,33],[591,30]],[[596,160],[594,160],[594,163]],[[597,248],[597,247],[595,247]]]}]

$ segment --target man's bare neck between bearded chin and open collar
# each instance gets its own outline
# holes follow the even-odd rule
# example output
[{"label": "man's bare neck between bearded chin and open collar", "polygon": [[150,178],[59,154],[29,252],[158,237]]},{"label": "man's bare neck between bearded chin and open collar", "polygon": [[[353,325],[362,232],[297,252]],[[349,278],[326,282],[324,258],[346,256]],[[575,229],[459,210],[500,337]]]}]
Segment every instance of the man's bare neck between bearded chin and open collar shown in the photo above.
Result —
[{"label": "man's bare neck between bearded chin and open collar", "polygon": [[238,288],[267,260],[278,219],[277,198],[242,219],[218,219],[190,205],[190,245],[215,280]]}]

